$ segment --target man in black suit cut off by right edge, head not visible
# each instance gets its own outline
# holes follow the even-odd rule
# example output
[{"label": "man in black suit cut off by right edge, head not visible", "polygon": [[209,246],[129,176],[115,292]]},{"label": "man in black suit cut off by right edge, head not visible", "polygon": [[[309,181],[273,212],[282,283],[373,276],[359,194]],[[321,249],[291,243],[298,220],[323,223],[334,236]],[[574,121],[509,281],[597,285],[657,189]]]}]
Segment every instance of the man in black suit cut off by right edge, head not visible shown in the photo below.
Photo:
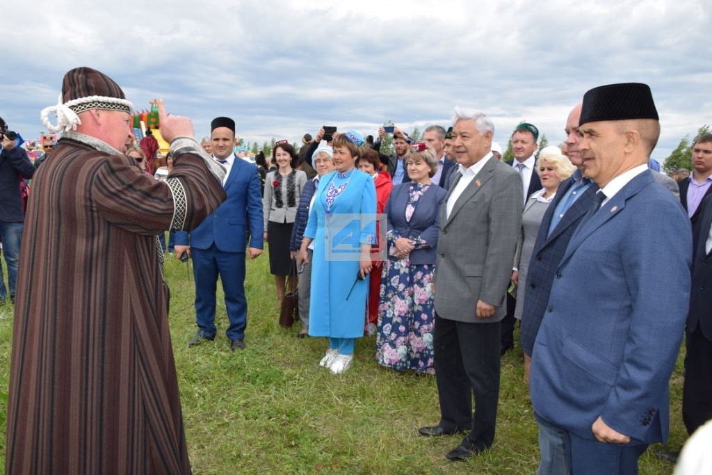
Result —
[{"label": "man in black suit cut off by right edge, head not visible", "polygon": [[703,200],[697,216],[682,393],[682,419],[689,434],[712,419],[712,196]]}]

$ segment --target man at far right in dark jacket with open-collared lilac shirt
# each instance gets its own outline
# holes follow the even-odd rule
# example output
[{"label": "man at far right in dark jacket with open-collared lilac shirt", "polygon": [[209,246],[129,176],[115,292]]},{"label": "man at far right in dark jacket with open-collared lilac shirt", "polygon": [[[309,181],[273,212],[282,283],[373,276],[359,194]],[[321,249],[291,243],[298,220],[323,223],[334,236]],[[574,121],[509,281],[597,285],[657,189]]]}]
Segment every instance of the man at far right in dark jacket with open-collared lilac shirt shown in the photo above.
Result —
[{"label": "man at far right in dark jacket with open-collared lilac shirt", "polygon": [[712,194],[712,134],[696,137],[692,145],[692,174],[681,179],[680,202],[687,210],[695,232],[700,217],[701,202]]}]

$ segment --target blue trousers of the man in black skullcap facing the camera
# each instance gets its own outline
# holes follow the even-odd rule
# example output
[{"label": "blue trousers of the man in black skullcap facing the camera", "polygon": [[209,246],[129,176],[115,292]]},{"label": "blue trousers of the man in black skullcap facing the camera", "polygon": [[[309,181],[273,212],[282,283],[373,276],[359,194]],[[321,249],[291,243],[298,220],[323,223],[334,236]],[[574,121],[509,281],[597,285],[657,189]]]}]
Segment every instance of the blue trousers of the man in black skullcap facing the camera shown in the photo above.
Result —
[{"label": "blue trousers of the man in black skullcap facing the camera", "polygon": [[225,293],[225,308],[230,325],[229,340],[245,338],[247,300],[245,298],[245,253],[191,247],[195,276],[195,313],[198,331],[204,338],[215,338],[215,303],[218,277]]}]

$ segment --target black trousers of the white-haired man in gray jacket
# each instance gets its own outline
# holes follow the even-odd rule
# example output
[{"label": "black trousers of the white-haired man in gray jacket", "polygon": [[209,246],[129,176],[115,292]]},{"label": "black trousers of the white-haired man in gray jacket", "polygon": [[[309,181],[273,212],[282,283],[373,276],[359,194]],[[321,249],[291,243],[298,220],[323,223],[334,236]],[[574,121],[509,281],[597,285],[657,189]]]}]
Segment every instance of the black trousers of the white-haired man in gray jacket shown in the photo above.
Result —
[{"label": "black trousers of the white-haired man in gray jacket", "polygon": [[500,323],[456,322],[436,314],[433,337],[440,427],[469,428],[463,445],[491,447],[499,400]]}]

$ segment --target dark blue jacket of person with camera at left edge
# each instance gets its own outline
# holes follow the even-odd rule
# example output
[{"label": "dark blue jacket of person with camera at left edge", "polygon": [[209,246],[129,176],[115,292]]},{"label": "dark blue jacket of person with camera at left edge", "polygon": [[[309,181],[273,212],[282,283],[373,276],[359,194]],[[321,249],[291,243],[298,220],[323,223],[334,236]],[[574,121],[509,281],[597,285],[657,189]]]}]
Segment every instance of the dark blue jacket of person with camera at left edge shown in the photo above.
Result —
[{"label": "dark blue jacket of person with camera at left edge", "polygon": [[0,152],[0,221],[21,222],[25,220],[20,197],[20,177],[30,179],[35,166],[22,147]]}]

